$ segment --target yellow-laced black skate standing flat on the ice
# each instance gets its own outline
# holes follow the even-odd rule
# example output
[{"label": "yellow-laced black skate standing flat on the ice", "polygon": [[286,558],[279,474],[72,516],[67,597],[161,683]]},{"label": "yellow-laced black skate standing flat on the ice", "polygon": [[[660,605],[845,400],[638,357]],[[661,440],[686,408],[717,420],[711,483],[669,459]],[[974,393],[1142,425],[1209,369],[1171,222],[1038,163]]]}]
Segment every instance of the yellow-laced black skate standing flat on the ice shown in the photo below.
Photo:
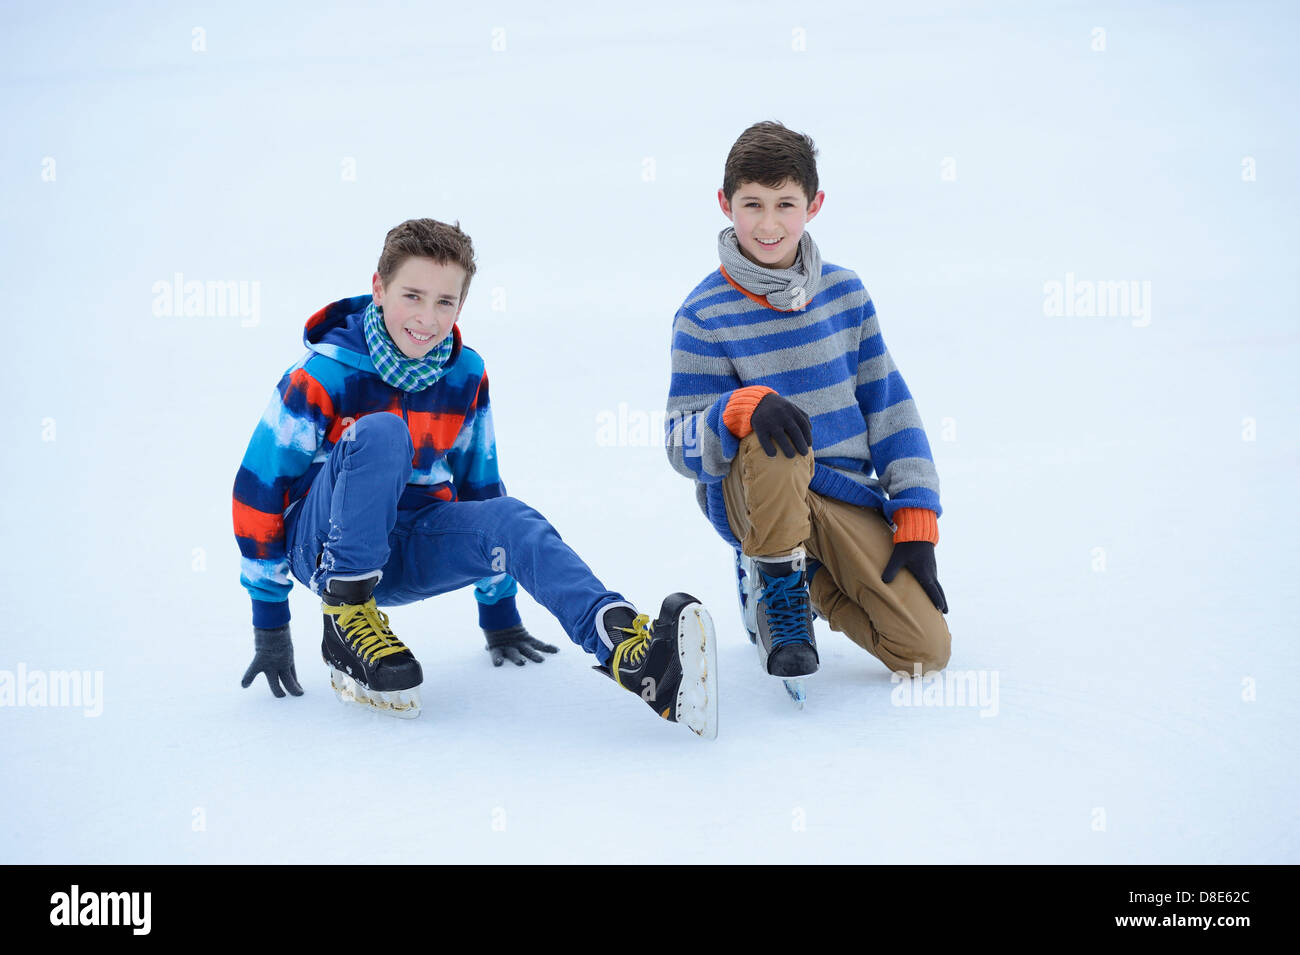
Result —
[{"label": "yellow-laced black skate standing flat on the ice", "polygon": [[325,585],[321,656],[342,703],[410,720],[420,715],[424,673],[370,596],[378,579],[378,574],[359,581],[334,577]]}]

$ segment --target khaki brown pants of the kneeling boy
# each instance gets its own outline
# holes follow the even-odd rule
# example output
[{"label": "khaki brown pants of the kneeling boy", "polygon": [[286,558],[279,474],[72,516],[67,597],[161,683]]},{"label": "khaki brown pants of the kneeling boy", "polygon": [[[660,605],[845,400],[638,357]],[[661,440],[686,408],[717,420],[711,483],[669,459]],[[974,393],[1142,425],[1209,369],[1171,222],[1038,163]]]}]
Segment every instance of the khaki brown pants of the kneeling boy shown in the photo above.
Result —
[{"label": "khaki brown pants of the kneeling boy", "polygon": [[775,457],[750,434],[723,479],[732,533],[750,557],[775,557],[803,547],[822,563],[809,587],[812,609],[831,629],[911,674],[948,665],[953,638],[944,615],[910,570],[881,583],[893,531],[875,509],[809,490],[812,455]]}]

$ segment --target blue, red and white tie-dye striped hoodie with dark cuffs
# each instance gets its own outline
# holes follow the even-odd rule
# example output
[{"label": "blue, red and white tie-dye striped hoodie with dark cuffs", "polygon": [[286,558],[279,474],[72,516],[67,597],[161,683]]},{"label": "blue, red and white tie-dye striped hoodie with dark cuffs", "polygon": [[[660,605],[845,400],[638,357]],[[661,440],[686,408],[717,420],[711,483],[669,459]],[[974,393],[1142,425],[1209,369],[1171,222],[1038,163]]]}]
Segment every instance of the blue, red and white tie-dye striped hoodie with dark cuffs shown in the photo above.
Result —
[{"label": "blue, red and white tie-dye striped hoodie with dark cuffs", "polygon": [[[400,414],[411,429],[415,457],[399,511],[506,492],[497,473],[482,359],[462,346],[454,325],[446,374],[424,391],[394,388],[380,378],[365,344],[361,318],[369,301],[368,294],[341,299],[307,320],[303,343],[309,351],[280,379],[235,474],[239,581],[252,598],[254,626],[289,622],[292,578],[285,517],[307,496],[330,450],[358,418]],[[494,600],[514,592],[508,577],[499,583]]]}]

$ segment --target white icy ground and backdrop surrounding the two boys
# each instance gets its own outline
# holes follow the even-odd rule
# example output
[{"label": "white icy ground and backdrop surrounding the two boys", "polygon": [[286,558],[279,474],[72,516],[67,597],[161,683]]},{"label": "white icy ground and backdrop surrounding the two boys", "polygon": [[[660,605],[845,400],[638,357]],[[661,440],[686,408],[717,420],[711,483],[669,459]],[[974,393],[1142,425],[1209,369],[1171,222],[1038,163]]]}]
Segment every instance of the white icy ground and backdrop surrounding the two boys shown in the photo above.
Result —
[{"label": "white icy ground and backdrop surrounding the two boys", "polygon": [[[439,6],[0,14],[0,669],[104,678],[98,719],[0,709],[0,861],[1300,861],[1294,8]],[[597,443],[602,411],[662,408],[760,118],[822,149],[811,230],[916,395],[950,669],[998,674],[994,717],[893,706],[824,624],[794,711],[655,434]],[[417,721],[335,702],[302,586],[307,695],[239,689],[235,469],[306,317],[413,216],[474,238],[511,492],[644,608],[712,609],[716,742],[528,599],[562,652],[494,670],[468,591],[391,612]],[[260,324],[155,317],[176,272],[260,282]],[[1044,316],[1067,272],[1149,281],[1149,326]]]}]

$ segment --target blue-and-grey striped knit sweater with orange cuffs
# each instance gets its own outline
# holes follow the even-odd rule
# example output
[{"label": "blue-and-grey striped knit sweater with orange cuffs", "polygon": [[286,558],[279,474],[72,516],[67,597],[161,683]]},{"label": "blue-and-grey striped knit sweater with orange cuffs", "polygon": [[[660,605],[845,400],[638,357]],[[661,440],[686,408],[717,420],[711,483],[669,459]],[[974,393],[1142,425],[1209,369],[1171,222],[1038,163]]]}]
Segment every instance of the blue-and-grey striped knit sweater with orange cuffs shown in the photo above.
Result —
[{"label": "blue-and-grey striped knit sweater with orange cuffs", "polygon": [[802,311],[783,312],[719,268],[677,309],[668,460],[696,481],[701,508],[733,547],[722,479],[770,391],[811,418],[814,491],[879,508],[894,541],[939,541],[930,442],[852,269],[823,262],[816,295]]}]

